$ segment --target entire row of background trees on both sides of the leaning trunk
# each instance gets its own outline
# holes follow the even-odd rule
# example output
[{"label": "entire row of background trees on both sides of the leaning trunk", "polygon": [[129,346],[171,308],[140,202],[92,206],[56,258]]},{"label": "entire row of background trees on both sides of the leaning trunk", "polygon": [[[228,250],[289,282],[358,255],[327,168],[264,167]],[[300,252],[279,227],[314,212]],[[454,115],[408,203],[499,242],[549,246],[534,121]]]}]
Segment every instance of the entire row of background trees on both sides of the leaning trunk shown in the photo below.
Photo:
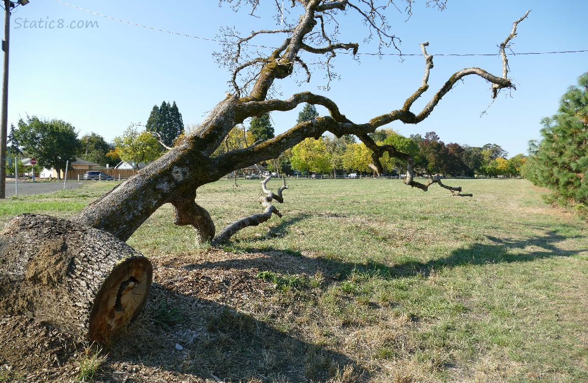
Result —
[{"label": "entire row of background trees on both sides of the leaning trunk", "polygon": [[[296,122],[310,121],[318,116],[316,107],[306,103]],[[76,159],[110,167],[126,161],[138,169],[140,164],[158,159],[183,134],[182,115],[175,101],[172,105],[164,101],[159,107],[153,106],[145,126],[129,126],[122,135],[114,137],[112,143],[93,132],[78,138],[75,127],[62,120],[27,116],[19,120],[18,128],[11,126],[7,174],[14,173],[14,164],[10,159],[17,156],[35,157],[38,161],[35,171],[42,167],[54,167],[59,173],[68,161],[71,163]],[[435,132],[428,132],[424,137],[419,134],[405,137],[393,129],[379,129],[369,136],[378,145],[393,145],[399,152],[409,154],[413,158],[415,171],[429,176],[516,177],[520,176],[520,169],[526,160],[523,154],[507,159],[508,153],[492,143],[482,147],[445,144]],[[243,124],[233,127],[213,155],[245,149],[273,137],[275,129],[270,115],[263,113],[252,117],[249,127]],[[260,164],[270,172],[292,174],[298,171],[337,177],[345,172],[374,173],[372,156],[372,150],[353,135],[323,135],[318,139],[306,138],[276,159]],[[383,174],[397,176],[407,169],[406,160],[390,157],[388,153],[380,162]],[[21,172],[24,169],[19,169]]]}]

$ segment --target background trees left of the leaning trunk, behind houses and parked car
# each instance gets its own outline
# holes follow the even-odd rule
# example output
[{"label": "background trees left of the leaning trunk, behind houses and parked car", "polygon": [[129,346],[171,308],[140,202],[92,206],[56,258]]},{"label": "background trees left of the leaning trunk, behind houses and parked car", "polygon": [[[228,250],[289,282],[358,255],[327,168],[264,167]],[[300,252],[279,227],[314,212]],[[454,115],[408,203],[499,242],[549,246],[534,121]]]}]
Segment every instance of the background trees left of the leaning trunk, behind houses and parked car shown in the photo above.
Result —
[{"label": "background trees left of the leaning trunk, behind houses and parked car", "polygon": [[[141,129],[141,127],[143,129]],[[8,161],[6,174],[14,174],[15,164],[19,174],[26,170],[18,160],[21,157],[37,160],[34,171],[54,168],[58,174],[65,170],[68,162],[85,160],[99,166],[116,166],[121,161],[132,164],[150,162],[173,146],[183,135],[182,115],[174,101],[153,106],[145,126],[131,125],[112,143],[106,142],[98,133],[82,137],[71,123],[59,119],[43,119],[26,116],[11,125],[7,142]]]}]

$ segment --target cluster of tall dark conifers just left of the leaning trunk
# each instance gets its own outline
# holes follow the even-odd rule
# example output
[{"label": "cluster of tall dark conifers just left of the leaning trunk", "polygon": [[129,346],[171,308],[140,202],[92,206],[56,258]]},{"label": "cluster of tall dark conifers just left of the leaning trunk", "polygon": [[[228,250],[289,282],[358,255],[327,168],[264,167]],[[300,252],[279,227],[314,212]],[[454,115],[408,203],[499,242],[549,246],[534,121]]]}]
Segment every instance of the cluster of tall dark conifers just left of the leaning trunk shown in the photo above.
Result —
[{"label": "cluster of tall dark conifers just left of the leaning trunk", "polygon": [[159,107],[154,105],[145,124],[145,130],[159,133],[166,146],[173,146],[174,140],[184,130],[182,114],[179,112],[176,102],[169,105],[169,101],[163,101]]}]

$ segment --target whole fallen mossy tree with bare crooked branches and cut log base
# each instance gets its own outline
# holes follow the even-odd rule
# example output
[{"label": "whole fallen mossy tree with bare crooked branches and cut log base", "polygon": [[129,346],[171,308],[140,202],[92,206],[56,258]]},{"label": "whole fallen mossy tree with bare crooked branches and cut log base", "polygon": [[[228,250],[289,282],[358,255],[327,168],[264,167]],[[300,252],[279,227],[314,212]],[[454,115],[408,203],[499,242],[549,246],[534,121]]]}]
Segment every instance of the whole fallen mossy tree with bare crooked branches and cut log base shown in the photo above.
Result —
[{"label": "whole fallen mossy tree with bare crooked branches and cut log base", "polygon": [[[259,1],[254,0],[221,2],[235,3],[232,5],[237,7],[250,6],[251,14],[259,5]],[[340,112],[335,101],[312,92],[296,93],[287,99],[270,98],[272,86],[278,80],[292,76],[295,68],[303,69],[310,78],[306,56],[326,56],[330,81],[330,62],[336,52],[358,52],[358,43],[338,41],[336,19],[344,12],[362,18],[370,36],[379,39],[380,48],[395,46],[396,37],[390,35],[384,15],[386,9],[393,6],[392,2],[383,1],[383,5],[377,5],[377,1],[363,0],[292,0],[291,3],[300,16],[291,23],[285,18],[284,28],[256,31],[242,38],[233,31],[226,31],[223,52],[219,57],[232,70],[232,90],[199,128],[183,137],[172,150],[93,201],[69,221],[31,215],[19,216],[11,221],[0,234],[1,313],[28,311],[39,320],[65,330],[92,340],[107,341],[138,315],[151,283],[149,261],[123,242],[163,204],[173,205],[175,224],[194,227],[197,240],[215,243],[226,240],[226,237],[215,240],[216,229],[211,216],[195,201],[198,187],[215,182],[233,170],[274,159],[307,137],[318,139],[325,132],[338,137],[359,137],[373,151],[373,164],[379,173],[382,173],[379,159],[384,153],[407,160],[409,171],[405,183],[427,190],[432,183],[422,184],[413,179],[412,159],[408,154],[399,152],[392,145],[377,145],[368,133],[394,121],[417,124],[425,120],[440,99],[459,80],[469,75],[479,76],[491,83],[493,98],[500,89],[514,88],[507,77],[505,49],[516,35],[517,24],[526,15],[515,22],[512,33],[500,45],[502,76],[492,75],[480,68],[459,70],[432,95],[420,112],[413,112],[411,107],[429,89],[433,56],[426,52],[428,43],[421,45],[425,75],[419,88],[400,109],[375,116],[367,122],[352,122]],[[409,10],[411,3],[407,1]],[[440,0],[430,3],[445,5]],[[264,35],[283,35],[283,42],[266,56],[248,52],[248,48],[252,47],[250,42]],[[329,111],[329,115],[300,122],[265,142],[212,157],[230,130],[245,119],[292,110],[301,103],[321,105]],[[438,179],[433,181],[443,186]],[[265,184],[263,187],[265,189]],[[460,188],[449,189],[454,193],[461,191]],[[277,196],[265,190],[268,196],[266,210],[269,209],[269,213],[263,219],[268,214],[271,216],[275,208],[272,209],[269,202],[278,200],[278,197],[281,199],[282,190],[283,187]],[[260,221],[256,219],[257,223]],[[229,228],[228,233],[240,227],[236,224]],[[31,230],[42,231],[46,243],[26,240]],[[89,244],[91,241],[95,243]],[[103,248],[108,248],[108,251],[101,251]],[[59,317],[59,312],[66,314]]]}]

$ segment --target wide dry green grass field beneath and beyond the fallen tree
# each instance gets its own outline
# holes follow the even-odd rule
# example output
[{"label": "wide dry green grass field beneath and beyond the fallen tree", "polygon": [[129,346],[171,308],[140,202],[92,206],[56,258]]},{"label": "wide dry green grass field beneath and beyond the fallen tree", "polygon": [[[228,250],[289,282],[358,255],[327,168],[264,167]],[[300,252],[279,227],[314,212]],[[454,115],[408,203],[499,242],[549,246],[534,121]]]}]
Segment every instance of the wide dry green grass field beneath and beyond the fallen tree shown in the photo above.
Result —
[{"label": "wide dry green grass field beneath and beyond the fallen tree", "polygon": [[[163,206],[128,243],[153,260],[156,283],[218,309],[199,318],[208,338],[164,369],[185,381],[588,381],[586,221],[544,204],[526,180],[446,183],[474,196],[400,180],[290,180],[276,204],[283,219],[240,231],[222,252],[195,244]],[[68,217],[109,187],[9,199],[0,217]],[[255,180],[222,180],[196,200],[218,230],[259,212],[259,195]],[[199,290],[188,291],[194,270]],[[215,276],[234,282],[230,294],[206,290]],[[195,328],[195,314],[155,291],[143,323]],[[109,355],[109,369],[131,358]]]}]

